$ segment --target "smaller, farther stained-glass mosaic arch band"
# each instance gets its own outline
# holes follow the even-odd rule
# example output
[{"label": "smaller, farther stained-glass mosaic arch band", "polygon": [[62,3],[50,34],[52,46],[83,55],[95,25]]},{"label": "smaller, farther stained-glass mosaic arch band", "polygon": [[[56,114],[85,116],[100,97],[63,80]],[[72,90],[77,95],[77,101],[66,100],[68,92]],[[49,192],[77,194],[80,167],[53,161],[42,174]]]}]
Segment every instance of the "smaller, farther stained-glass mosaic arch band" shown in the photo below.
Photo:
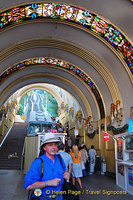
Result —
[{"label": "smaller, farther stained-glass mosaic arch band", "polygon": [[72,74],[78,76],[89,86],[89,88],[93,92],[93,94],[97,100],[99,109],[100,109],[101,118],[105,117],[103,101],[102,101],[101,95],[100,95],[97,87],[93,83],[93,81],[81,69],[79,69],[78,67],[76,67],[64,60],[60,60],[60,59],[56,59],[56,58],[48,58],[48,57],[39,57],[39,58],[31,58],[31,59],[24,60],[20,63],[13,65],[12,67],[8,68],[3,74],[1,74],[0,75],[0,83],[2,83],[11,74],[13,74],[19,70],[22,70],[24,68],[27,68],[31,65],[50,65],[52,67],[59,67],[59,68],[68,70]]}]

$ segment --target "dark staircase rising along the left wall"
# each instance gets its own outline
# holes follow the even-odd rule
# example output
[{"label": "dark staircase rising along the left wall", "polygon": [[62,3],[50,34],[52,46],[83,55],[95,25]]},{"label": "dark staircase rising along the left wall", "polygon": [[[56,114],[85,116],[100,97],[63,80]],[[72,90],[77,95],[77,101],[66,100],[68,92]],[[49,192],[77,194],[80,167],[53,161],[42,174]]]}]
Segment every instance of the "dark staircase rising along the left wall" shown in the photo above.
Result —
[{"label": "dark staircase rising along the left wall", "polygon": [[20,170],[27,124],[15,123],[0,148],[0,169]]}]

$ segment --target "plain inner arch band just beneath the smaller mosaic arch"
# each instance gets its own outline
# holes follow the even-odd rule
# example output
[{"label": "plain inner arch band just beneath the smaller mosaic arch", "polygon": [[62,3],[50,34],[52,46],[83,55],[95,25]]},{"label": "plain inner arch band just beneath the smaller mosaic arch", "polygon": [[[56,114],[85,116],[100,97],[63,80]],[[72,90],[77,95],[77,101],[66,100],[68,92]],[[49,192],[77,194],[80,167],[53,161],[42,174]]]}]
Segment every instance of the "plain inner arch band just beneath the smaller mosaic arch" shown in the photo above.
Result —
[{"label": "plain inner arch band just beneath the smaller mosaic arch", "polygon": [[[62,85],[63,82],[64,82],[64,85]],[[50,84],[54,84],[59,87],[62,87],[63,89],[68,91],[70,94],[72,94],[75,97],[75,99],[79,102],[85,117],[87,117],[88,115],[90,115],[90,113],[92,113],[87,97],[82,93],[82,91],[78,88],[78,86],[70,82],[70,80],[65,79],[65,77],[60,77],[59,75],[55,75],[55,74],[53,75],[46,72],[35,73],[35,74],[33,73],[30,75],[25,75],[25,76],[22,75],[18,79],[14,80],[14,82],[9,84],[5,88],[5,90],[2,92],[1,102],[2,101],[4,102],[6,99],[8,99],[9,96],[12,95],[14,92],[16,92],[18,89],[26,85],[33,84],[33,83],[34,84],[35,83],[50,83]],[[100,119],[100,111],[99,111],[99,107],[96,101],[95,101],[95,106],[93,107],[93,109],[95,110],[93,111],[93,116],[95,115],[95,118],[97,120]]]}]

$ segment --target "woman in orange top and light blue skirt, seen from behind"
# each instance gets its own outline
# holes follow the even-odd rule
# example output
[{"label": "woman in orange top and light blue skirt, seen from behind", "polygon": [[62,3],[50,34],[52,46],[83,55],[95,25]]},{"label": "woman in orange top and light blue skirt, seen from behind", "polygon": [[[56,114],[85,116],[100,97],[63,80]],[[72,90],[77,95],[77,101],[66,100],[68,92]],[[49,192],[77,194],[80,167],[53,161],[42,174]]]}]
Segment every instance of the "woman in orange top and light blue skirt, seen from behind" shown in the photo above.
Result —
[{"label": "woman in orange top and light blue skirt, seen from behind", "polygon": [[83,177],[82,174],[82,168],[80,161],[83,160],[81,152],[78,151],[78,146],[73,145],[72,146],[72,152],[70,153],[73,161],[73,166],[72,166],[72,182],[73,185],[75,185],[75,178],[77,179],[80,189],[82,189],[82,183],[80,177]]}]

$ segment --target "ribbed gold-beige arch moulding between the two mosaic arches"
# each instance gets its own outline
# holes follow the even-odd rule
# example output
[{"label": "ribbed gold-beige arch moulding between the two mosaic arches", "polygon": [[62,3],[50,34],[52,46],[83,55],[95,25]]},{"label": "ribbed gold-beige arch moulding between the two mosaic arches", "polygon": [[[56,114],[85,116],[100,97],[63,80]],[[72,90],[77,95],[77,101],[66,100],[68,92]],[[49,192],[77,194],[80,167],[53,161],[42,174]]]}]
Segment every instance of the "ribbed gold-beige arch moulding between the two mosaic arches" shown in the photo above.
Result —
[{"label": "ribbed gold-beige arch moulding between the two mosaic arches", "polygon": [[[83,58],[85,61],[87,61],[91,66],[93,66],[98,73],[102,76],[102,78],[105,80],[109,91],[112,95],[113,102],[116,100],[121,100],[119,89],[116,85],[116,82],[111,75],[110,71],[106,68],[106,66],[91,52],[76,46],[75,44],[69,43],[67,41],[59,40],[57,38],[41,38],[41,39],[32,39],[24,42],[20,42],[19,44],[12,45],[3,51],[0,52],[0,60],[3,61],[4,59],[7,59],[8,56],[11,56],[19,51],[23,51],[30,48],[35,47],[54,47],[63,49],[69,52],[74,53],[75,55]],[[1,74],[0,78],[4,78],[4,73]],[[1,80],[0,80],[1,81]],[[121,100],[122,102],[122,100]]]}]

